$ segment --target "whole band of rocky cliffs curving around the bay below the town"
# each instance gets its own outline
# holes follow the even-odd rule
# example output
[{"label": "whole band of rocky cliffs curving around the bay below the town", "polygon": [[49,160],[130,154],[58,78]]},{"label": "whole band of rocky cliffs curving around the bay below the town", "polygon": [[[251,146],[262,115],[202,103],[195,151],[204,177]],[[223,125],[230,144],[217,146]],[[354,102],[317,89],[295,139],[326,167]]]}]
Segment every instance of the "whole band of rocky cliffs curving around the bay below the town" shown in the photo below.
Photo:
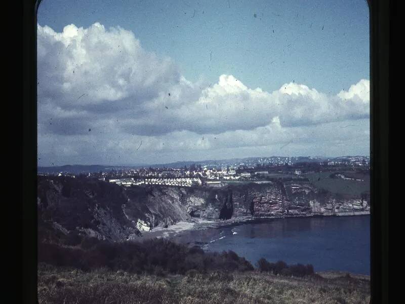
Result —
[{"label": "whole band of rocky cliffs curving around the bay below the town", "polygon": [[309,183],[124,188],[70,177],[40,177],[37,205],[40,227],[51,225],[59,234],[74,232],[113,241],[193,217],[218,220],[370,212],[366,200],[341,198]]}]

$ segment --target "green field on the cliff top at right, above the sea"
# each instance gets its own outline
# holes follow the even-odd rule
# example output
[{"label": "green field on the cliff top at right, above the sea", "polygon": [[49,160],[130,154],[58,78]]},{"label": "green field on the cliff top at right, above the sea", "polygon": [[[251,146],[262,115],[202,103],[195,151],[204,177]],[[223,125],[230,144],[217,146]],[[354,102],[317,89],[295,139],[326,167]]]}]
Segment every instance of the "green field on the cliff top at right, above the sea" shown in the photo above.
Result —
[{"label": "green field on the cliff top at right, above the sea", "polygon": [[331,178],[333,172],[319,172],[303,174],[317,188],[328,190],[332,193],[350,196],[360,196],[362,192],[370,191],[370,176],[363,176],[364,181],[344,180]]}]

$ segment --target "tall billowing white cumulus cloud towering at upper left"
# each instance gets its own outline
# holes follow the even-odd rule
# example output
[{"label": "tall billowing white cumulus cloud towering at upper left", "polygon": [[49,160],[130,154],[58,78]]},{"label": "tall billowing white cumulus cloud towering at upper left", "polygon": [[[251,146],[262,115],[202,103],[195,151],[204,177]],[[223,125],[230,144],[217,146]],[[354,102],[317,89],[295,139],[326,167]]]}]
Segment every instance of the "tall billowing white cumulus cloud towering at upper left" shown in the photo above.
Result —
[{"label": "tall billowing white cumulus cloud towering at upper left", "polygon": [[53,102],[63,107],[97,111],[128,97],[141,104],[180,79],[170,58],[146,52],[131,31],[99,23],[61,33],[38,25],[37,60],[39,96],[57,94]]}]

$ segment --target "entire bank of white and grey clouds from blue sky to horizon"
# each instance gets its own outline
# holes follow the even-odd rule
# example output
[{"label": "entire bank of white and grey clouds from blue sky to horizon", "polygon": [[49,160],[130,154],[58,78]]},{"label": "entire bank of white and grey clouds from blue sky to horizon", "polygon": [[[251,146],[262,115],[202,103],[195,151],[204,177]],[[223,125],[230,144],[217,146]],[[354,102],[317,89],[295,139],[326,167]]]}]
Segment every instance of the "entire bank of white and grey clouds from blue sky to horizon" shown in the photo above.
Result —
[{"label": "entire bank of white and grey clouds from blue sky to horizon", "polygon": [[38,148],[47,158],[130,161],[141,141],[143,151],[179,156],[343,140],[353,137],[349,129],[332,135],[328,126],[349,121],[368,128],[368,80],[336,95],[295,83],[266,92],[228,74],[211,86],[186,80],[170,58],[146,51],[120,27],[37,29]]}]

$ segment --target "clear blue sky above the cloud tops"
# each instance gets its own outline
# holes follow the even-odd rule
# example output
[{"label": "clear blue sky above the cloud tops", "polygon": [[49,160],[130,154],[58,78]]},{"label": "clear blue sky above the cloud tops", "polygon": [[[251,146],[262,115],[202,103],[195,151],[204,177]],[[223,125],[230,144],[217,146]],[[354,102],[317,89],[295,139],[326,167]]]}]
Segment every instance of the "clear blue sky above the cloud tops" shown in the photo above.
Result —
[{"label": "clear blue sky above the cloud tops", "polygon": [[365,0],[43,0],[38,10],[38,23],[58,32],[95,22],[133,31],[146,50],[173,58],[190,81],[204,75],[216,82],[227,73],[266,91],[294,80],[338,93],[369,79]]}]

